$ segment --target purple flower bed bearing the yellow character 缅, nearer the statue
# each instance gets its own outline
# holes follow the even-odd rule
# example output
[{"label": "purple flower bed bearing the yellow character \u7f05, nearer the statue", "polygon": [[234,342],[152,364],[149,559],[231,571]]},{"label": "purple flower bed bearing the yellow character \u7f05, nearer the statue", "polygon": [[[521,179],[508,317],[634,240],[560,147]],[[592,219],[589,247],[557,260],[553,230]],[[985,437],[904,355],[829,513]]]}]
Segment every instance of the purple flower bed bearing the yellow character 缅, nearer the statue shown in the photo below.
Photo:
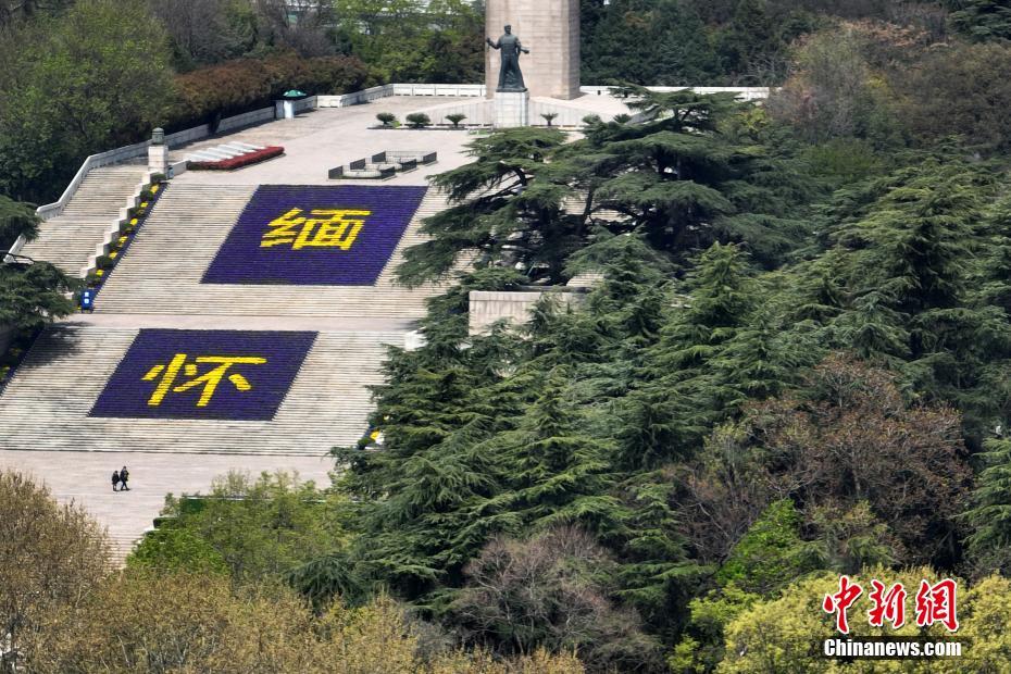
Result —
[{"label": "purple flower bed bearing the yellow character \u7f05, nearer the statue", "polygon": [[261,185],[202,283],[375,285],[426,190]]}]

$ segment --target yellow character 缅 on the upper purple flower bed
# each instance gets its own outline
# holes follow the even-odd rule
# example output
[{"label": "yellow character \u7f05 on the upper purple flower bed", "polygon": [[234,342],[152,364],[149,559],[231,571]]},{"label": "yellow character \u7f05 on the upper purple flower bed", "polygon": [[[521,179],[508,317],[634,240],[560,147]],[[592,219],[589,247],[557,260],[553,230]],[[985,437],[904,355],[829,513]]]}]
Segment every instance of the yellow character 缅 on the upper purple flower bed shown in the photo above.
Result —
[{"label": "yellow character \u7f05 on the upper purple flower bed", "polygon": [[313,209],[309,212],[313,217],[304,217],[301,213],[301,209],[291,209],[271,221],[267,224],[270,230],[260,240],[260,248],[290,245],[292,250],[307,247],[348,250],[372,211]]}]

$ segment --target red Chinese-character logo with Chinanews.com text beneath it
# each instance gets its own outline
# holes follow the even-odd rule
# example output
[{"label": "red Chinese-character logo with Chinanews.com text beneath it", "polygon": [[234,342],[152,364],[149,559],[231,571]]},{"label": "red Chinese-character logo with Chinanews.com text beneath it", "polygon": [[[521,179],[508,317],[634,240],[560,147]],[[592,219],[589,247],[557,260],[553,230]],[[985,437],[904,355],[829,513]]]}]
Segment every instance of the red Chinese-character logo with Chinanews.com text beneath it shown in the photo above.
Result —
[{"label": "red Chinese-character logo with Chinanews.com text beneath it", "polygon": [[[910,588],[912,589],[912,588]],[[842,637],[829,637],[822,644],[822,656],[840,660],[878,659],[902,660],[913,658],[958,658],[962,654],[962,641],[954,638],[939,639],[923,636],[865,636],[849,637],[850,613],[864,588],[849,576],[839,576],[839,589],[825,595],[822,610],[835,616],[836,629]],[[868,624],[872,627],[899,629],[907,622],[918,627],[944,626],[950,635],[959,629],[958,583],[944,578],[937,583],[923,579],[915,590],[913,614],[907,616],[906,604],[909,592],[901,583],[886,586],[874,578],[866,598],[871,609],[866,611]],[[853,611],[856,613],[856,610]]]}]

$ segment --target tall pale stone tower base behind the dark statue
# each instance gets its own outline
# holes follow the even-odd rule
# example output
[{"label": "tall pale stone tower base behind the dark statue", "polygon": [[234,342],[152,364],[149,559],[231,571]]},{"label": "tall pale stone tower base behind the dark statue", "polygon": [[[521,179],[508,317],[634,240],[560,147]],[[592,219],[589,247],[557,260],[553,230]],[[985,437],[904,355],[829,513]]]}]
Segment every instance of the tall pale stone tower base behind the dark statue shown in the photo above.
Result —
[{"label": "tall pale stone tower base behind the dark statue", "polygon": [[[485,32],[491,39],[512,25],[531,50],[520,57],[523,82],[531,96],[573,99],[579,91],[578,0],[488,0]],[[491,98],[498,86],[500,52],[486,48],[485,84]]]}]

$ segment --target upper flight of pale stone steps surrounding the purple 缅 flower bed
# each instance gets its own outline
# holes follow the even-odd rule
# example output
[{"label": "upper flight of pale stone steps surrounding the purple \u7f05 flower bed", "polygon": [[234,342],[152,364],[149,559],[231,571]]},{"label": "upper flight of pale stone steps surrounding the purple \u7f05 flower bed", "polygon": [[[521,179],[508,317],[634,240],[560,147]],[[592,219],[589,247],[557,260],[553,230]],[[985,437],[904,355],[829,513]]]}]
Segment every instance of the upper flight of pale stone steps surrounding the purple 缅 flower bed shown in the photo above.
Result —
[{"label": "upper flight of pale stone steps surrounding the purple \u7f05 flower bed", "polygon": [[429,190],[375,286],[217,285],[201,278],[257,186],[172,185],[102,288],[96,311],[257,316],[419,319],[438,286],[394,280],[424,217],[446,208]]}]

